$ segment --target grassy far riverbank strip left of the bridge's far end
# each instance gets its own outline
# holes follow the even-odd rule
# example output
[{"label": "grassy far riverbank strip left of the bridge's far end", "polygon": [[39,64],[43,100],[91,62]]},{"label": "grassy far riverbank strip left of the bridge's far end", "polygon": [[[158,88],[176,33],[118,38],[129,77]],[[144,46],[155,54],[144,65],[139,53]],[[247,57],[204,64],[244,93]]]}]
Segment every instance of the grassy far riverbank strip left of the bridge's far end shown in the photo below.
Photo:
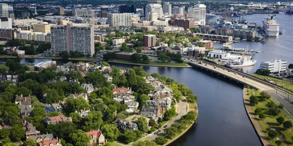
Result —
[{"label": "grassy far riverbank strip left of the bridge's far end", "polygon": [[192,67],[188,64],[185,63],[159,63],[159,62],[150,62],[149,64],[139,64],[139,63],[133,63],[130,61],[126,60],[112,60],[108,62],[113,62],[113,63],[122,63],[122,64],[132,64],[132,65],[142,65],[142,66],[156,66],[156,67],[185,67],[189,68]]}]

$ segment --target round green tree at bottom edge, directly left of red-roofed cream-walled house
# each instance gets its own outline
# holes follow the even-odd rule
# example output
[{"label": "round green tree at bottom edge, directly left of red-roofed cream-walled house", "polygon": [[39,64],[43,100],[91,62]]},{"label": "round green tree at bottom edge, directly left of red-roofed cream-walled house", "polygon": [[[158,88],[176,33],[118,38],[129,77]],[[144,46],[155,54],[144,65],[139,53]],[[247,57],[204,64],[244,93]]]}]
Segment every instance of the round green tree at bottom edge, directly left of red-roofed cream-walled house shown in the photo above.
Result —
[{"label": "round green tree at bottom edge, directly left of red-roofed cream-walled house", "polygon": [[69,135],[70,143],[75,146],[86,146],[90,141],[91,137],[89,137],[84,131],[77,130],[75,133],[71,133]]}]

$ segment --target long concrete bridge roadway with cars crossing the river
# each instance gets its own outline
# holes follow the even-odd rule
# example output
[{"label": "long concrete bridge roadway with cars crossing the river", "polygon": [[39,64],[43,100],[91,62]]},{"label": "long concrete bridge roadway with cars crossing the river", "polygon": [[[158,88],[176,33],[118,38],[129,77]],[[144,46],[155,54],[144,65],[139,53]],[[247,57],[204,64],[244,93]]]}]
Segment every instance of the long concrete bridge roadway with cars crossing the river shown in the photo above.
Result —
[{"label": "long concrete bridge roadway with cars crossing the river", "polygon": [[[284,108],[287,111],[289,111],[291,114],[293,113],[293,105],[292,105],[292,103],[288,102],[288,99],[289,99],[289,101],[292,102],[293,97],[291,95],[289,96],[289,94],[287,94],[288,92],[284,93],[284,92],[280,91],[279,87],[277,87],[277,86],[274,87],[274,85],[270,85],[260,79],[251,77],[251,76],[244,74],[242,72],[238,72],[238,71],[226,68],[226,67],[219,66],[217,64],[211,64],[211,63],[204,62],[204,61],[203,61],[203,64],[200,64],[199,62],[202,60],[193,60],[193,59],[191,59],[191,60],[192,61],[190,61],[190,60],[184,60],[184,61],[188,62],[190,65],[201,67],[202,69],[207,69],[209,71],[218,73],[220,75],[223,75],[224,77],[228,77],[228,78],[233,79],[233,80],[240,82],[242,84],[255,87],[255,88],[259,89],[260,91],[268,92],[268,94],[270,94],[272,97],[274,97],[279,103],[282,103],[284,105]],[[207,64],[207,65],[205,65],[205,64]],[[214,66],[216,68],[214,68]],[[278,88],[278,90],[277,90],[277,88]]]}]

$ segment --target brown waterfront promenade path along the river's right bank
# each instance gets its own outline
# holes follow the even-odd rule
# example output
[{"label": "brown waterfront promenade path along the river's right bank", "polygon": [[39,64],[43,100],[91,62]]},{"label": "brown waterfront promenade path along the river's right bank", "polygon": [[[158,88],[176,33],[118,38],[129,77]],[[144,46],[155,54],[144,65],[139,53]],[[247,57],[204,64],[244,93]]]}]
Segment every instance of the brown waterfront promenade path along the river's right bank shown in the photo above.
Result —
[{"label": "brown waterfront promenade path along the river's right bank", "polygon": [[257,118],[255,118],[255,115],[253,114],[247,93],[248,93],[247,89],[243,88],[243,102],[244,102],[244,107],[245,107],[246,113],[247,113],[256,133],[258,134],[260,141],[263,143],[264,146],[270,146],[271,145],[270,141],[268,140],[268,138],[266,137],[262,128],[260,127],[260,124],[258,123]]}]

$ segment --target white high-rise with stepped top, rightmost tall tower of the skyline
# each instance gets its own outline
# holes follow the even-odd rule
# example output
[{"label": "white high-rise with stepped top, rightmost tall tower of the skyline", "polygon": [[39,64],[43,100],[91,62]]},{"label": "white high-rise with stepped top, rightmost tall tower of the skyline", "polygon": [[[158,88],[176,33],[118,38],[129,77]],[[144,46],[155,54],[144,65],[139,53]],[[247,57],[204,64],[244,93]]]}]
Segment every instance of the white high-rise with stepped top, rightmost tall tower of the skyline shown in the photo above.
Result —
[{"label": "white high-rise with stepped top, rightmost tall tower of the skyline", "polygon": [[206,6],[196,4],[188,8],[188,17],[193,18],[195,25],[205,25]]}]

